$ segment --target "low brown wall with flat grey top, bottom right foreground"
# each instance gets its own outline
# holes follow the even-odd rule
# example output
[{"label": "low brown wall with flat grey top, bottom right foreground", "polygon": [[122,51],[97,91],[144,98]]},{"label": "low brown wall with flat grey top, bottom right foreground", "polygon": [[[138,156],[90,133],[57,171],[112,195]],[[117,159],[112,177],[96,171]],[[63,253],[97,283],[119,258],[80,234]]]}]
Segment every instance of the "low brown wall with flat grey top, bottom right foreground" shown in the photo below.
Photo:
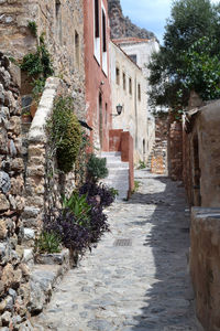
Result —
[{"label": "low brown wall with flat grey top, bottom right foreground", "polygon": [[220,209],[191,213],[190,274],[197,316],[206,331],[220,330]]}]

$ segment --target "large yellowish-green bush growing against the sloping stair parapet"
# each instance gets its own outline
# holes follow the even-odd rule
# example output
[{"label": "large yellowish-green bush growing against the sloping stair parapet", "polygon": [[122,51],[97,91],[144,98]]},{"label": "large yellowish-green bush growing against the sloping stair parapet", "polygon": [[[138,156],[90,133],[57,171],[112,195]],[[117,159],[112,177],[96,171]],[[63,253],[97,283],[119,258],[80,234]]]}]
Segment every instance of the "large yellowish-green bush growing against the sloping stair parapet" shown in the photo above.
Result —
[{"label": "large yellowish-green bush growing against the sloping stair parapet", "polygon": [[68,173],[73,170],[81,145],[81,127],[74,115],[70,97],[56,99],[48,130],[56,149],[58,169]]}]

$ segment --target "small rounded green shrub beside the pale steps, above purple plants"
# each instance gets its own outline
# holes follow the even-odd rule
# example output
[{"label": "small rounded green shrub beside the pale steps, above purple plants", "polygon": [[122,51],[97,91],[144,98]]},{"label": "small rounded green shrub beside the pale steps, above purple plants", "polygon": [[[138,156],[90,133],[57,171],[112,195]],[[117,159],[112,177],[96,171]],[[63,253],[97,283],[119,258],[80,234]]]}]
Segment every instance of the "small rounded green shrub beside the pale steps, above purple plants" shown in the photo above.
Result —
[{"label": "small rounded green shrub beside the pale steps, above purple plants", "polygon": [[87,162],[88,179],[92,182],[98,182],[98,180],[106,178],[108,173],[107,159],[97,158],[91,153]]}]

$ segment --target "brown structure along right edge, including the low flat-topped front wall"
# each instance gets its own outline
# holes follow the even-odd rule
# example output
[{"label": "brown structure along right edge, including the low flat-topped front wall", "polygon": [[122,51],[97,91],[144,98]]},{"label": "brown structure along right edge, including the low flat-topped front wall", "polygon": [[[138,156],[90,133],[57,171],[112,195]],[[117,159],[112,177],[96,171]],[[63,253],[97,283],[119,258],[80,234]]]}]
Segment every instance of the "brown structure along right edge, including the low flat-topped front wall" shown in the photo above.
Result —
[{"label": "brown structure along right edge, including the low flat-topped front wall", "polygon": [[183,180],[193,206],[190,274],[197,316],[212,331],[220,329],[220,102],[202,105],[194,96],[189,106],[183,122]]}]

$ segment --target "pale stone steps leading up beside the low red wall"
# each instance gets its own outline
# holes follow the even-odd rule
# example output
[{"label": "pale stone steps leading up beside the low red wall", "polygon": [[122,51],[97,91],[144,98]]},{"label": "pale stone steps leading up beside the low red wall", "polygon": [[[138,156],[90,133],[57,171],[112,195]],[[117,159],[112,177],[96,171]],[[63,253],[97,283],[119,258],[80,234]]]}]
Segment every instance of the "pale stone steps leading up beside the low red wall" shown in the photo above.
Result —
[{"label": "pale stone steps leading up beside the low red wall", "polygon": [[109,175],[102,183],[118,190],[117,200],[128,199],[129,193],[129,162],[121,161],[121,152],[102,152],[101,158],[107,159]]}]

